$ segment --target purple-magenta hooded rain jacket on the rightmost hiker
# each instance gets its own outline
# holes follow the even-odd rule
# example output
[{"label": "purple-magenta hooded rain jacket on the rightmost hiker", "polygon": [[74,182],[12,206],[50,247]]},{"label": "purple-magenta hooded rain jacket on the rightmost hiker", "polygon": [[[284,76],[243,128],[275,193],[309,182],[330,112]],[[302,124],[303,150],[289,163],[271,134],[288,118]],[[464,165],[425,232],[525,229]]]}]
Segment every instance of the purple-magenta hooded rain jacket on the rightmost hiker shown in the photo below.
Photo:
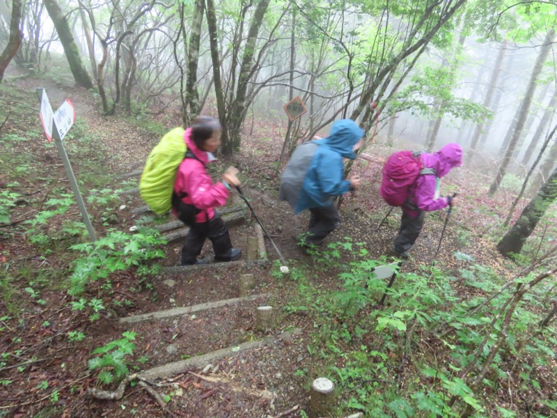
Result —
[{"label": "purple-magenta hooded rain jacket on the rightmost hiker", "polygon": [[[436,176],[419,176],[416,183],[410,187],[409,201],[414,203],[418,209],[427,210],[428,212],[446,208],[448,206],[448,199],[446,197],[434,199],[437,180],[446,176],[450,169],[462,165],[462,148],[458,144],[450,143],[435,153],[421,154],[420,159],[423,162],[424,168],[427,167],[435,170]],[[418,211],[411,208],[403,206],[402,210],[412,217],[418,216]]]}]

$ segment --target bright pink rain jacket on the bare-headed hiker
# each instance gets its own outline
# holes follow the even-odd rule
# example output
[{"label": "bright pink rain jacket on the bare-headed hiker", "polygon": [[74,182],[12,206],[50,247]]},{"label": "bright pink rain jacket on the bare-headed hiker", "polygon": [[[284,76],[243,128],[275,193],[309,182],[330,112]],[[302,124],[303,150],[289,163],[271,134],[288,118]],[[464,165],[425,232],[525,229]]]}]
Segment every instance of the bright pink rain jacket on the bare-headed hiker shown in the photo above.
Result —
[{"label": "bright pink rain jacket on the bare-headed hiker", "polygon": [[230,192],[222,183],[214,183],[207,173],[205,167],[210,163],[209,155],[203,150],[196,147],[193,139],[191,139],[191,127],[184,132],[184,141],[187,149],[191,151],[198,159],[185,158],[174,183],[174,192],[178,196],[187,193],[182,201],[189,205],[194,205],[201,209],[196,215],[196,222],[207,222],[214,217],[214,208],[224,206]]}]

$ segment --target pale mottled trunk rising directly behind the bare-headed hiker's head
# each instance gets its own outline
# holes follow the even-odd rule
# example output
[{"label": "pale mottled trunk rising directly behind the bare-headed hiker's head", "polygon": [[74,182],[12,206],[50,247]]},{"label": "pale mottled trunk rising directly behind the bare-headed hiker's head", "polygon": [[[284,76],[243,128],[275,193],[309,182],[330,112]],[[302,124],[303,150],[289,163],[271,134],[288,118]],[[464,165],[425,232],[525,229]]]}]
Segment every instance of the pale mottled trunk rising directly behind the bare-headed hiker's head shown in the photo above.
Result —
[{"label": "pale mottled trunk rising directly behind the bare-headed hiker's head", "polygon": [[[199,93],[197,89],[197,68],[199,65],[199,45],[201,45],[201,25],[205,13],[205,1],[195,0],[194,18],[189,32],[188,73],[186,100],[191,118],[196,117],[201,110],[199,107]],[[187,109],[184,109],[187,111]]]}]

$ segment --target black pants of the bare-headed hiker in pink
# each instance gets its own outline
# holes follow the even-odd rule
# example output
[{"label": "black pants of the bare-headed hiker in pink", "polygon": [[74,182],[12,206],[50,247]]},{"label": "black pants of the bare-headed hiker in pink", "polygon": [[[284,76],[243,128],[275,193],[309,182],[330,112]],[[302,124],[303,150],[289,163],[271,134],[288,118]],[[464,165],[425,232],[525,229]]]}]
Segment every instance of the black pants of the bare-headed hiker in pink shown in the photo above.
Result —
[{"label": "black pants of the bare-headed hiker in pink", "polygon": [[188,226],[189,232],[182,247],[181,265],[196,263],[197,256],[201,253],[205,243],[205,238],[211,240],[215,257],[225,257],[232,249],[228,228],[226,228],[226,224],[217,212],[214,212],[214,217],[207,222],[194,222]]}]

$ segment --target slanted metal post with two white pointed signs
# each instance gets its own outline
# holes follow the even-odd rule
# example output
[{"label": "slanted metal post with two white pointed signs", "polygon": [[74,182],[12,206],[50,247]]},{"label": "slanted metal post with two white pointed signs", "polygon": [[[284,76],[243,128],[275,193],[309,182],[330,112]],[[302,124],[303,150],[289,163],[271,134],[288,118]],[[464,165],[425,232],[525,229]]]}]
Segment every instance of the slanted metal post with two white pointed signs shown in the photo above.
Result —
[{"label": "slanted metal post with two white pointed signs", "polygon": [[85,207],[85,203],[81,197],[81,192],[79,192],[77,180],[75,180],[72,165],[70,164],[68,154],[66,154],[64,144],[62,142],[63,137],[65,137],[65,134],[68,133],[68,130],[70,130],[70,127],[72,127],[75,121],[75,109],[73,104],[70,100],[66,100],[53,114],[45,89],[37,88],[37,94],[40,100],[40,121],[42,123],[42,127],[45,130],[47,139],[50,142],[54,139],[54,144],[56,145],[56,149],[58,149],[58,155],[60,155],[64,164],[66,176],[68,176],[70,185],[72,185],[77,206],[79,206],[79,210],[81,211],[81,217],[87,227],[89,238],[91,238],[91,241],[96,241],[97,237],[95,235],[95,230],[93,229],[93,225],[89,219],[87,208]]}]

